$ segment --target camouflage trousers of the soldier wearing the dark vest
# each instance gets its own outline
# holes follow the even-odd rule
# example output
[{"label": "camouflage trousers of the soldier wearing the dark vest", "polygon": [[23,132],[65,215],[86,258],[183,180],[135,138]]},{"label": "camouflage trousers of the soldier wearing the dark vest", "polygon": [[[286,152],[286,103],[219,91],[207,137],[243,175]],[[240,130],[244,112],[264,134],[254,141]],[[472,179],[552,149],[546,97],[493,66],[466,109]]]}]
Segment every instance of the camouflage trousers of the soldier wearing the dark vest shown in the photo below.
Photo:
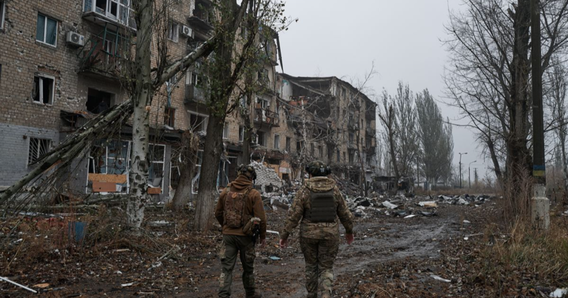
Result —
[{"label": "camouflage trousers of the soldier wearing the dark vest", "polygon": [[300,245],[305,258],[305,288],[308,298],[317,298],[321,283],[321,297],[331,297],[333,263],[339,250],[339,240],[301,237]]}]

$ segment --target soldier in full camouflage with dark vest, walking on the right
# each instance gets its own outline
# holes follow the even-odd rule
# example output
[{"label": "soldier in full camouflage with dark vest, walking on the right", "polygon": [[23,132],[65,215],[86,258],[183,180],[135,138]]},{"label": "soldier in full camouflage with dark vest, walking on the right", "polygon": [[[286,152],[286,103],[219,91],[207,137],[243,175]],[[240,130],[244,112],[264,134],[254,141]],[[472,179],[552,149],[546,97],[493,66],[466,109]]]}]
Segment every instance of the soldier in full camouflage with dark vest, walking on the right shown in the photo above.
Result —
[{"label": "soldier in full camouflage with dark vest, walking on the right", "polygon": [[310,179],[296,193],[280,245],[287,247],[287,238],[300,226],[300,245],[305,258],[305,288],[308,298],[317,298],[321,281],[321,298],[331,297],[333,263],[339,250],[339,222],[345,227],[348,244],[353,242],[353,215],[335,181],[326,177],[330,168],[321,161],[305,167]]}]

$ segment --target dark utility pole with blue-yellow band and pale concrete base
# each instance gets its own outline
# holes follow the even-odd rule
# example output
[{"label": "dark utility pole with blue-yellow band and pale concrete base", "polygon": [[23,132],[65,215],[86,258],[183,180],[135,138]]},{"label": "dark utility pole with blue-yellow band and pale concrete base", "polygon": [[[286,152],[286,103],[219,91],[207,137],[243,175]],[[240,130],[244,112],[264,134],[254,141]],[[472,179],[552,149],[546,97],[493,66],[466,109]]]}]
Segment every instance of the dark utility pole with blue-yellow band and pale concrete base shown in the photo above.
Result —
[{"label": "dark utility pole with blue-yellow band and pale concrete base", "polygon": [[547,176],[544,161],[544,120],[542,109],[542,58],[540,53],[540,10],[538,0],[531,0],[531,68],[533,80],[533,198],[531,220],[535,227],[548,229],[550,201],[547,199]]}]

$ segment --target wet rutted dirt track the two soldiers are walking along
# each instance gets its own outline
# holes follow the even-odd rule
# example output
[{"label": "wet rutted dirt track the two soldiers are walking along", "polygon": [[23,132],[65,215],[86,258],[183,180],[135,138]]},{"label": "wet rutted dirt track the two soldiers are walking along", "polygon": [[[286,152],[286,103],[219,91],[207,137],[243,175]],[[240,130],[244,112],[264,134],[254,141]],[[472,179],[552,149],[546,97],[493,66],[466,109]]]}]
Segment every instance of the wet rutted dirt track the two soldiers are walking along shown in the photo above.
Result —
[{"label": "wet rutted dirt track the two soldiers are walking along", "polygon": [[[393,218],[380,216],[355,226],[357,238],[353,245],[342,243],[335,263],[335,289],[344,293],[338,281],[352,279],[360,272],[373,272],[396,261],[419,263],[424,259],[438,258],[446,240],[461,231],[461,218],[465,207],[447,206],[438,211],[440,216]],[[305,297],[304,262],[297,238],[292,238],[292,247],[276,249],[276,237],[271,236],[272,247],[258,251],[256,277],[263,297]],[[267,257],[276,255],[282,261],[270,261]],[[201,268],[204,266],[202,265]],[[197,287],[197,292],[184,292],[175,297],[216,297],[219,262],[213,260],[206,272],[211,279]],[[233,297],[245,297],[242,289],[242,270],[236,266],[233,279]],[[427,279],[425,279],[426,281]],[[345,285],[343,285],[345,286]],[[197,294],[198,293],[198,294]],[[197,296],[196,296],[197,295]]]}]

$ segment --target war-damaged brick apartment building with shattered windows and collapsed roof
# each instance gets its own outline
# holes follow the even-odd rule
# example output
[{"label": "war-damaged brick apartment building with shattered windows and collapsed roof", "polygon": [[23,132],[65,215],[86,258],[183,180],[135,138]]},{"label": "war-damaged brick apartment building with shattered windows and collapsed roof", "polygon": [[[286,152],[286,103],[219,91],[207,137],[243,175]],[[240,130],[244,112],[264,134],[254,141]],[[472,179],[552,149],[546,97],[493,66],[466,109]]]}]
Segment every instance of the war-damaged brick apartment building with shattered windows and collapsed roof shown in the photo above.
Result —
[{"label": "war-damaged brick apartment building with shattered windows and collapsed roof", "polygon": [[[0,189],[29,173],[34,161],[89,119],[127,100],[118,77],[136,38],[130,1],[0,0]],[[171,5],[168,55],[180,57],[211,37],[213,3]],[[236,166],[250,160],[274,168],[287,182],[301,177],[301,164],[310,159],[328,161],[339,177],[353,181],[370,176],[375,104],[335,77],[276,73],[277,33],[272,37],[263,43],[269,59],[258,71],[265,88],[240,98],[240,109],[227,116],[218,186],[236,178]],[[172,78],[152,101],[148,193],[155,201],[171,198],[179,181],[181,133],[206,131],[206,77],[199,65]],[[127,193],[131,145],[130,125],[101,138],[87,158],[73,163],[69,189]],[[203,154],[199,150],[198,167]],[[199,171],[193,194],[198,182]]]}]

